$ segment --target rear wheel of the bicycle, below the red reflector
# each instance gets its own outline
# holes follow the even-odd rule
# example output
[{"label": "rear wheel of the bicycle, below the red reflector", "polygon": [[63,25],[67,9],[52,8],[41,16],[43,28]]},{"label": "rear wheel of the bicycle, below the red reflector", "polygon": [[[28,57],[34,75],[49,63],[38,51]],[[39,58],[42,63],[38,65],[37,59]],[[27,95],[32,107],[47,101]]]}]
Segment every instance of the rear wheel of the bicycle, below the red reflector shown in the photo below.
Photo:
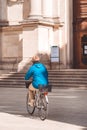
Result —
[{"label": "rear wheel of the bicycle, below the red reflector", "polygon": [[45,120],[48,115],[48,103],[46,102],[45,96],[40,98],[39,117],[41,120]]}]

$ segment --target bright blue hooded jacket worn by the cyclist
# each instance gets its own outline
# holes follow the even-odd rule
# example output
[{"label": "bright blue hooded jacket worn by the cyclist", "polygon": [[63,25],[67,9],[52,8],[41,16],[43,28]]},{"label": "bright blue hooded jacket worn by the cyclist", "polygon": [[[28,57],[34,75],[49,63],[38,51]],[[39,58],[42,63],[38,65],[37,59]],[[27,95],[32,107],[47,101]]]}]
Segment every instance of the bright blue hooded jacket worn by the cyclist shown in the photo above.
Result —
[{"label": "bright blue hooded jacket worn by the cyclist", "polygon": [[25,80],[29,80],[31,77],[33,78],[32,85],[37,89],[38,85],[48,85],[47,69],[40,62],[34,63],[25,74]]}]

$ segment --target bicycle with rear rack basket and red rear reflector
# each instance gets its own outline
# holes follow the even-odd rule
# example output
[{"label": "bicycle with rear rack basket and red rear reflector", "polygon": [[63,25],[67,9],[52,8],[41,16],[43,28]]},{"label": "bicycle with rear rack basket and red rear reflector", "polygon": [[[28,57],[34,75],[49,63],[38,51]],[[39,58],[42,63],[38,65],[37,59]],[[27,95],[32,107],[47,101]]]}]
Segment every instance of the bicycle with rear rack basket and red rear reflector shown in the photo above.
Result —
[{"label": "bicycle with rear rack basket and red rear reflector", "polygon": [[48,86],[39,85],[38,91],[35,93],[35,102],[33,106],[28,104],[29,93],[27,93],[26,106],[27,111],[30,115],[33,115],[35,109],[38,109],[38,114],[41,120],[45,120],[48,115],[48,91],[50,88]]}]

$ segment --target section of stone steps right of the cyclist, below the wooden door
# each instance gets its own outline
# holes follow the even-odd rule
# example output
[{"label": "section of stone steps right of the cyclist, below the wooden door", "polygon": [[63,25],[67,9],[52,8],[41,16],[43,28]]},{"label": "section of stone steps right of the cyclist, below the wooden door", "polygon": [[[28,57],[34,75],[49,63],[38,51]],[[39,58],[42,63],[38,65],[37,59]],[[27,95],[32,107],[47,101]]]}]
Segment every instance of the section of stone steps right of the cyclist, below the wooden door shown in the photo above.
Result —
[{"label": "section of stone steps right of the cyclist, below the wooden door", "polygon": [[87,70],[53,70],[49,72],[49,79],[54,87],[87,87]]}]

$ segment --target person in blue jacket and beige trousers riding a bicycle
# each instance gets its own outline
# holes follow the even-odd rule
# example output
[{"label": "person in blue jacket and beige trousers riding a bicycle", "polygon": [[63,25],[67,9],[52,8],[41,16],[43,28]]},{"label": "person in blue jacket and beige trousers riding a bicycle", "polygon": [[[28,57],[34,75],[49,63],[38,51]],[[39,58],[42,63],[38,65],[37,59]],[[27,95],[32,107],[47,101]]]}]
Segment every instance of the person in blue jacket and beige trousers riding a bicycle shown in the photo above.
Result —
[{"label": "person in blue jacket and beige trousers riding a bicycle", "polygon": [[29,85],[29,105],[33,105],[35,99],[35,91],[39,85],[43,87],[48,85],[48,71],[44,64],[40,62],[40,58],[35,55],[32,57],[32,66],[25,74],[25,80],[32,77],[32,83]]}]

